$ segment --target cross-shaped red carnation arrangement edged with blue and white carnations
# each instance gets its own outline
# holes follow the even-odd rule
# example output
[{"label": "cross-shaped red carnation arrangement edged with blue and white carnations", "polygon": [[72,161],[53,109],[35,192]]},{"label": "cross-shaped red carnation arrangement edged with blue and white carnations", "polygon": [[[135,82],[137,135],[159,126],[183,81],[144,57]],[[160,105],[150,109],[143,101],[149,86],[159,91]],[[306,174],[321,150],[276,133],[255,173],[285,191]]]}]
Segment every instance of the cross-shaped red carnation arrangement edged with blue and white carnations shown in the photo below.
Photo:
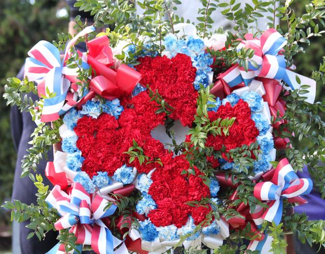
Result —
[{"label": "cross-shaped red carnation arrangement edged with blue and white carnations", "polygon": [[[67,167],[76,172],[73,181],[80,183],[88,193],[99,189],[100,193],[107,194],[105,190],[112,184],[120,183],[119,187],[135,184],[141,193],[136,211],[144,216],[137,228],[143,242],[175,241],[188,234],[187,240],[195,240],[201,234],[202,242],[209,245],[206,239],[210,235],[218,235],[221,231],[218,237],[228,236],[228,227],[223,220],[210,218],[205,222],[209,212],[219,203],[217,178],[208,177],[206,185],[204,174],[196,167],[194,174],[187,178],[184,172],[190,166],[185,157],[173,156],[163,144],[151,137],[150,132],[157,125],[164,124],[167,114],[173,120],[180,119],[183,125],[192,125],[199,96],[196,90],[209,85],[212,59],[205,52],[201,39],[188,37],[177,40],[175,36],[169,36],[165,43],[165,56],[141,55],[137,58],[140,65],[134,68],[142,74],[140,83],[149,84],[151,93],[156,90],[173,112],[157,114],[157,104],[151,100],[150,92],[138,84],[132,99],[127,101],[92,100],[82,105],[80,110],[71,109],[64,115],[60,128],[61,148],[68,153]],[[132,50],[133,47],[129,47],[127,52]],[[180,73],[175,78],[177,82],[165,80],[173,86],[166,87],[160,80],[173,77],[173,72]],[[188,75],[185,78],[184,73]],[[186,87],[184,92],[174,96],[173,93],[182,87]],[[263,91],[258,93],[260,87],[257,84],[256,88],[238,89],[222,101],[217,98],[209,104],[211,121],[234,117],[229,135],[210,134],[207,137],[206,145],[214,151],[225,147],[219,157],[216,154],[209,157],[212,167],[220,164],[221,169],[236,170],[236,163],[226,154],[242,145],[257,142],[263,153],[254,161],[253,171],[263,173],[271,168],[270,161],[274,160],[269,155],[274,149],[271,119],[262,98]],[[190,141],[190,135],[186,141]],[[151,163],[132,160],[130,155],[137,149]],[[205,206],[199,205],[202,200],[207,202]],[[202,229],[198,230],[198,225],[203,223]]]}]

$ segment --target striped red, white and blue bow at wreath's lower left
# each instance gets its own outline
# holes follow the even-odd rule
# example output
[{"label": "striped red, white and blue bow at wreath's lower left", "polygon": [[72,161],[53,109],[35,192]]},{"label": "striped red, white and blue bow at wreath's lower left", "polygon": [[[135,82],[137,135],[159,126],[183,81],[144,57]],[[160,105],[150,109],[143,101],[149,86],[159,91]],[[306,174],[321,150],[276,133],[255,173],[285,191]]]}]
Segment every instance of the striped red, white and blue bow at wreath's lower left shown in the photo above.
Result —
[{"label": "striped red, white and blue bow at wreath's lower left", "polygon": [[[96,253],[113,253],[114,248],[122,243],[121,240],[114,237],[107,227],[105,219],[112,215],[116,210],[116,205],[112,205],[105,211],[107,201],[99,195],[90,196],[80,183],[74,183],[71,195],[66,194],[55,185],[51,193],[46,198],[49,207],[56,208],[61,216],[56,221],[54,227],[56,230],[70,229],[77,237],[77,244],[91,245]],[[61,244],[55,245],[49,254],[59,253],[64,250]],[[125,244],[118,248],[121,253],[126,250]]]}]

